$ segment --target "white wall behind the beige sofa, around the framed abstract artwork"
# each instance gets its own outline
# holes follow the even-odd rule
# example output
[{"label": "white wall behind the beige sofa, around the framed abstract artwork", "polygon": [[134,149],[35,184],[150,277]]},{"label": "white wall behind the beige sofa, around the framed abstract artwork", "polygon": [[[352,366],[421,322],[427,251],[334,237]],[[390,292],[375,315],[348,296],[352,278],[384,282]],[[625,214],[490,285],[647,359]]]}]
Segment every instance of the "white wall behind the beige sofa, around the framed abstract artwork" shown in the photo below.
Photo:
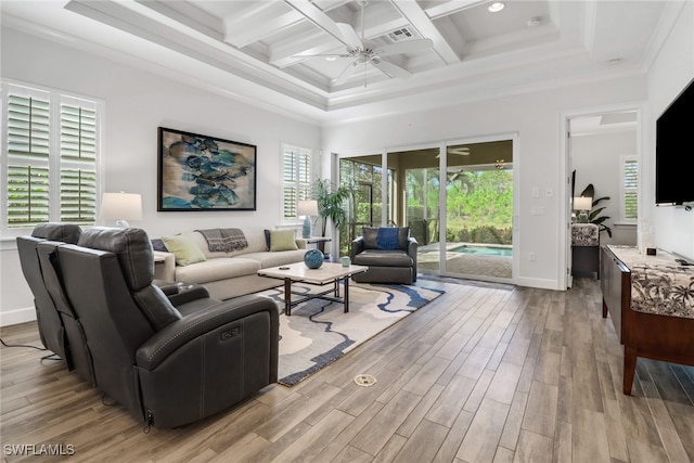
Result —
[{"label": "white wall behind the beige sofa, around the framed abstract artwork", "polygon": [[[320,149],[320,127],[239,103],[34,36],[2,30],[2,77],[105,101],[105,191],[141,193],[151,235],[280,221],[280,145]],[[257,145],[257,210],[157,213],[157,127]],[[113,223],[108,223],[113,224]],[[0,250],[0,324],[34,317],[12,240]],[[27,310],[27,308],[30,308]]]}]

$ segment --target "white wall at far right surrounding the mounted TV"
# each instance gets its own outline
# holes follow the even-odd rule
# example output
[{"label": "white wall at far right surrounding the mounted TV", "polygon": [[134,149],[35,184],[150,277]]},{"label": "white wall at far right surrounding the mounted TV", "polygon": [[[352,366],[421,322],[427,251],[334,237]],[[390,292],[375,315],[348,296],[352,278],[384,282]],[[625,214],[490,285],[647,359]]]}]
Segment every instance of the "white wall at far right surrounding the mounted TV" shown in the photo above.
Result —
[{"label": "white wall at far right surrounding the mounted TV", "polygon": [[[642,217],[654,230],[657,247],[694,259],[694,211],[682,207],[655,207],[655,121],[680,91],[694,79],[694,2],[682,9],[676,26],[648,73],[642,179]],[[691,155],[684,154],[683,155]],[[694,179],[694,172],[692,172]],[[694,180],[693,180],[694,181]]]}]

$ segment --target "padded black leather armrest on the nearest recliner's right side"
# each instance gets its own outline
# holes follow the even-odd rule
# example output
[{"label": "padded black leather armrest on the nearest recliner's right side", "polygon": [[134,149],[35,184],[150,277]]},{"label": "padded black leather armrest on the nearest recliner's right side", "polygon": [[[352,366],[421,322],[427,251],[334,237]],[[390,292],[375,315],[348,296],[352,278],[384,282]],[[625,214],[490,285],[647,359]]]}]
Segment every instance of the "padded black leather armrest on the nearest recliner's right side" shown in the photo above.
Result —
[{"label": "padded black leather armrest on the nearest recliner's right side", "polygon": [[[214,300],[214,299],[213,299]],[[169,355],[185,344],[227,323],[244,317],[268,311],[278,332],[279,310],[277,303],[266,296],[248,295],[224,300],[191,313],[147,339],[137,351],[136,362],[144,370],[156,369]]]}]

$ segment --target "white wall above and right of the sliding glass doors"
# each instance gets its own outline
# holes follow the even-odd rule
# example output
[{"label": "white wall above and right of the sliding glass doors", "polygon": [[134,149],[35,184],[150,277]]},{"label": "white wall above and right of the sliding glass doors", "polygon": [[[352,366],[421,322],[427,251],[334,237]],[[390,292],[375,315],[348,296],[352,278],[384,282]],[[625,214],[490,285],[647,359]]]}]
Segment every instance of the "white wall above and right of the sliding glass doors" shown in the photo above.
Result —
[{"label": "white wall above and right of the sliding glass doors", "polygon": [[[393,115],[364,121],[325,127],[323,150],[360,151],[419,144],[428,141],[518,133],[519,153],[514,153],[514,171],[519,176],[518,216],[520,285],[562,290],[560,265],[563,218],[560,201],[564,197],[564,172],[560,171],[562,114],[580,108],[632,103],[646,98],[645,76],[578,85],[451,107]],[[516,157],[517,154],[517,157]],[[531,197],[532,188],[542,194]],[[548,197],[545,192],[552,191]],[[535,206],[545,215],[531,215]],[[536,260],[528,259],[529,253]]]}]

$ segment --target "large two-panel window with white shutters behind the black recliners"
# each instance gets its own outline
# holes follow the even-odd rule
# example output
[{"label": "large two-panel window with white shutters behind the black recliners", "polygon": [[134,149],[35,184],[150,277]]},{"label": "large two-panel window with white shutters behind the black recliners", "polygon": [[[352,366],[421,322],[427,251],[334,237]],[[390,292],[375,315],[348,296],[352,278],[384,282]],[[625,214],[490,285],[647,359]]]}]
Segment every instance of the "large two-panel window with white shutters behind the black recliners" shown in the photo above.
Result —
[{"label": "large two-panel window with white shutters behind the black recliners", "polygon": [[5,82],[2,102],[2,228],[48,221],[93,224],[100,104]]}]

